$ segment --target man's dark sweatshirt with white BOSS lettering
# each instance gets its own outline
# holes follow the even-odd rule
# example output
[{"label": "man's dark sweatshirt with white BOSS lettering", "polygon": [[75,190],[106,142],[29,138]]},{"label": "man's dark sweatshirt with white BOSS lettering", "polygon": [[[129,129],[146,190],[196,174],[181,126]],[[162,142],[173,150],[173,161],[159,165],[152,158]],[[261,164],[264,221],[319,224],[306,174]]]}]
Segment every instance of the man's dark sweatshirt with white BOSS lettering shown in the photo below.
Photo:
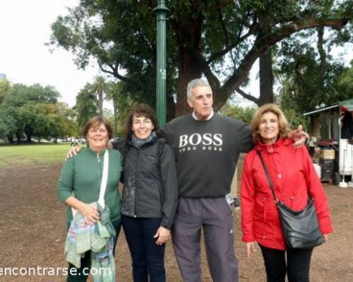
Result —
[{"label": "man's dark sweatshirt with white BOSS lettering", "polygon": [[227,195],[239,153],[253,148],[249,125],[218,114],[208,121],[181,116],[164,132],[177,161],[179,197]]}]

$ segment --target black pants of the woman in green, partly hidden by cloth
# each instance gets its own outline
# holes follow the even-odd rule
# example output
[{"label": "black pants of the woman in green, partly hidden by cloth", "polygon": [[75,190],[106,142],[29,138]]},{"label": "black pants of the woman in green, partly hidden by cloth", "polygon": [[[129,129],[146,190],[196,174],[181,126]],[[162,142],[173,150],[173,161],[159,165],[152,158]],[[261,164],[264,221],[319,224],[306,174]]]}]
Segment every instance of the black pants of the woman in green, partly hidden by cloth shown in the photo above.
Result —
[{"label": "black pants of the woman in green, partly hidden by cloth", "polygon": [[[116,241],[118,240],[120,233],[121,223],[114,226],[116,236],[114,238],[114,249],[115,253]],[[68,277],[67,282],[85,282],[87,281],[88,274],[90,272],[90,251],[85,252],[85,257],[81,258],[81,267],[78,269],[73,264],[68,264]]]}]

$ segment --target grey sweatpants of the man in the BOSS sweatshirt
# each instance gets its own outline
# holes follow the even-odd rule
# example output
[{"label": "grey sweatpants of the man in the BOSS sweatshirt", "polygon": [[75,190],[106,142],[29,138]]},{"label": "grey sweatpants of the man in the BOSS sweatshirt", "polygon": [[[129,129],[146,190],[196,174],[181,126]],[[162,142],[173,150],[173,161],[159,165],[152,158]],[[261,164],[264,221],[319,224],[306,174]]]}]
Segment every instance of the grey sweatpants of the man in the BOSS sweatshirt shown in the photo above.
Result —
[{"label": "grey sweatpants of the man in the BOSS sweatshirt", "polygon": [[225,197],[179,199],[172,238],[183,281],[201,281],[201,226],[213,281],[238,282],[233,214]]}]

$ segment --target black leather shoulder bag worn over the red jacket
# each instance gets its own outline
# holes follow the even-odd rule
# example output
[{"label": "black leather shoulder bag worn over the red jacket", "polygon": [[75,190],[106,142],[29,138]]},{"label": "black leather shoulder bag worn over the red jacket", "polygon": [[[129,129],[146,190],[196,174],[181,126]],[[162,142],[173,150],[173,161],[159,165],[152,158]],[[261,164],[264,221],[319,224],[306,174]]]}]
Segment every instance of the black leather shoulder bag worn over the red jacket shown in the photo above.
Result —
[{"label": "black leather shoulder bag worn over the red jacket", "polygon": [[316,247],[324,242],[323,235],[318,227],[318,217],[313,197],[309,196],[309,203],[301,211],[290,209],[285,203],[281,202],[275,193],[273,183],[268,173],[268,169],[263,161],[261,152],[258,152],[266,178],[275,198],[275,203],[280,214],[282,230],[285,235],[287,248],[289,249],[307,249]]}]

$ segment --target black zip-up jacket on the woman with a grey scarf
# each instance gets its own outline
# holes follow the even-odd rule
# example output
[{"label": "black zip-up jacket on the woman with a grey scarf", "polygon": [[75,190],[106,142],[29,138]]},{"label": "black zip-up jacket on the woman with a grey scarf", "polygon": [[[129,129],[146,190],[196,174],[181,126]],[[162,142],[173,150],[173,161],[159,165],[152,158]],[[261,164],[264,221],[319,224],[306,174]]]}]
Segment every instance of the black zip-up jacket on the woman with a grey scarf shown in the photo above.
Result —
[{"label": "black zip-up jacket on the woman with a grey scarf", "polygon": [[125,140],[113,142],[113,147],[125,156],[121,214],[161,217],[161,226],[172,228],[178,202],[177,169],[172,148],[162,137],[140,148]]}]

